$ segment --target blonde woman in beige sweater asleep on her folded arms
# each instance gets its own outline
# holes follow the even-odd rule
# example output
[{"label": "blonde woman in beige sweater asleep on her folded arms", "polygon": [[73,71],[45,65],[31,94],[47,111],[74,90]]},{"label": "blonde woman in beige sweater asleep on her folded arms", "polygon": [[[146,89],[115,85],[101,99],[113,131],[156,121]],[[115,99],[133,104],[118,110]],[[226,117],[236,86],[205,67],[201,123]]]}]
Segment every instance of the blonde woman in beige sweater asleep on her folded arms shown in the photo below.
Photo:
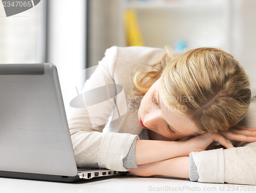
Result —
[{"label": "blonde woman in beige sweater asleep on her folded arms", "polygon": [[[204,150],[213,141],[226,148],[233,147],[226,139],[256,141],[254,128],[236,126],[248,111],[251,90],[243,68],[226,52],[199,48],[173,57],[163,49],[112,47],[82,92],[98,87],[101,76],[106,85],[122,85],[127,111],[120,117],[119,97],[95,113],[74,109],[69,127],[78,167],[224,183],[223,148]],[[115,120],[108,122],[110,116]],[[94,126],[92,119],[108,124]],[[206,154],[212,160],[205,162]],[[200,168],[215,162],[208,166],[216,174]]]}]

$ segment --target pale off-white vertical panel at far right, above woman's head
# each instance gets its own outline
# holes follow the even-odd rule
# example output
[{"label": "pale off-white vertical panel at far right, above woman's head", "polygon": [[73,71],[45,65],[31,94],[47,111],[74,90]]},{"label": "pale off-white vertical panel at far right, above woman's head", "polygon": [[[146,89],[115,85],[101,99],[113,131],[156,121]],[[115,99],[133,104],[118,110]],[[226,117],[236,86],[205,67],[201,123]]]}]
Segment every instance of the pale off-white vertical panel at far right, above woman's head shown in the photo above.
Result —
[{"label": "pale off-white vertical panel at far right, above woman's head", "polygon": [[232,54],[256,87],[256,1],[234,0],[232,4]]}]

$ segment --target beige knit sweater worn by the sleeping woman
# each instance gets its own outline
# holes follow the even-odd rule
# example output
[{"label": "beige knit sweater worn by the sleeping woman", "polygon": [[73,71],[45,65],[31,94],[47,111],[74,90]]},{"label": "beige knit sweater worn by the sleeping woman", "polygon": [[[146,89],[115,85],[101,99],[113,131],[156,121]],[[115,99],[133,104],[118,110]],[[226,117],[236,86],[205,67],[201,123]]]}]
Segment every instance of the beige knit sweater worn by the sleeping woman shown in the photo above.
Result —
[{"label": "beige knit sweater worn by the sleeping woman", "polygon": [[[153,70],[143,64],[151,65],[157,62],[163,53],[163,49],[148,47],[111,47],[106,50],[96,71],[84,84],[82,93],[105,84],[120,84],[123,90],[120,96],[108,101],[87,108],[73,109],[68,123],[78,167],[119,171],[129,169],[123,167],[123,159],[133,141],[138,138],[148,139],[146,131],[138,122],[137,111],[141,98],[131,95],[134,92],[131,79],[138,69]],[[256,127],[255,119],[252,118],[255,115],[252,109],[255,108],[254,102],[246,125]],[[110,117],[114,120],[109,120]],[[250,144],[240,148],[193,153],[193,158],[200,182],[256,184],[256,177],[247,175],[248,170],[256,174],[255,164],[250,164],[256,160],[255,143],[254,146]],[[237,175],[239,169],[243,170],[244,176]]]}]

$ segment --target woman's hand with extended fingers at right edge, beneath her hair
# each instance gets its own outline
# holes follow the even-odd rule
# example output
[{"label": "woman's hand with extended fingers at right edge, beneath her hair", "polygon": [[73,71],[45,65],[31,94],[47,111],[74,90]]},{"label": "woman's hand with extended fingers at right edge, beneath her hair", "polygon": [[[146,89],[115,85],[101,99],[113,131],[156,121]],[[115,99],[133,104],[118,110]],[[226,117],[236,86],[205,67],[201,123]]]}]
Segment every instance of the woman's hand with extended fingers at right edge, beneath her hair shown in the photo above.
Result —
[{"label": "woman's hand with extended fingers at right edge, beneath her hair", "polygon": [[223,137],[232,141],[254,142],[256,141],[256,128],[236,125],[226,132],[220,133]]}]

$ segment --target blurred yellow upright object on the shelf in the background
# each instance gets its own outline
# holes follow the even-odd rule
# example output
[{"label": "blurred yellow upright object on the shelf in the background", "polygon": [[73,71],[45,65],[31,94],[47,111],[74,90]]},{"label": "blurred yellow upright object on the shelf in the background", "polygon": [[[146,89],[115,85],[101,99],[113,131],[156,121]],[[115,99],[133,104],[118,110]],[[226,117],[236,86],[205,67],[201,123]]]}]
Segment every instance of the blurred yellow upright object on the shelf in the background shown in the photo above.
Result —
[{"label": "blurred yellow upright object on the shelf in the background", "polygon": [[134,10],[124,12],[127,46],[144,46],[137,14]]}]

